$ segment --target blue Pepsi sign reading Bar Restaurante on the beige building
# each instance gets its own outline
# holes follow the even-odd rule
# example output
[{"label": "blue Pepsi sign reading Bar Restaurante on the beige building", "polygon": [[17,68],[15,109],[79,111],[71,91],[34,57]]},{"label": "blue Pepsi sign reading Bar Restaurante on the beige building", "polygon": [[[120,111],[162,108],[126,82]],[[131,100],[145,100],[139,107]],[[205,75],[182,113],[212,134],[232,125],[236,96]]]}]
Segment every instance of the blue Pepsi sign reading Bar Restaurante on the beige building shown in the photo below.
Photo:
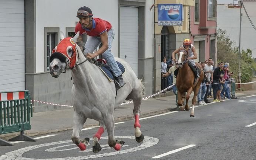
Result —
[{"label": "blue Pepsi sign reading Bar Restaurante on the beige building", "polygon": [[158,4],[158,25],[182,25],[182,4]]}]

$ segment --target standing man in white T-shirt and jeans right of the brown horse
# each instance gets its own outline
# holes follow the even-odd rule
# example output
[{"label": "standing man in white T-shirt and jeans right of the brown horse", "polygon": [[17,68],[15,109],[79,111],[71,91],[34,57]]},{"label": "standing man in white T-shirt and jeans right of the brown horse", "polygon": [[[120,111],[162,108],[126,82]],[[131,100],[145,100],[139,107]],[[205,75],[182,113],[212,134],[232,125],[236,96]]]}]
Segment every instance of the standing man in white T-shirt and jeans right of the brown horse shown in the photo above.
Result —
[{"label": "standing man in white T-shirt and jeans right of the brown horse", "polygon": [[208,63],[205,65],[205,75],[206,75],[206,80],[208,81],[208,85],[206,86],[205,98],[204,98],[204,101],[206,103],[210,103],[207,99],[207,95],[208,95],[210,84],[212,83],[212,80],[213,80],[213,66],[211,65],[211,63],[212,63],[212,59],[209,58]]}]

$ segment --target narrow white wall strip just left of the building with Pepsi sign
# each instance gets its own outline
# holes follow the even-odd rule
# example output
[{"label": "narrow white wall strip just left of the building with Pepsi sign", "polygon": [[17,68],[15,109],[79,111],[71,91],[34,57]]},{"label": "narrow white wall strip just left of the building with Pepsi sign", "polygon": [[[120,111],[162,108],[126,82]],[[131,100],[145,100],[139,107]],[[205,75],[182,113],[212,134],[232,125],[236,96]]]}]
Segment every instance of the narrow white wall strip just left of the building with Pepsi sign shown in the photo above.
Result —
[{"label": "narrow white wall strip just left of the building with Pepsi sign", "polygon": [[146,0],[145,6],[145,58],[151,58],[154,56],[154,7],[150,9],[150,7],[154,4],[154,0]]}]

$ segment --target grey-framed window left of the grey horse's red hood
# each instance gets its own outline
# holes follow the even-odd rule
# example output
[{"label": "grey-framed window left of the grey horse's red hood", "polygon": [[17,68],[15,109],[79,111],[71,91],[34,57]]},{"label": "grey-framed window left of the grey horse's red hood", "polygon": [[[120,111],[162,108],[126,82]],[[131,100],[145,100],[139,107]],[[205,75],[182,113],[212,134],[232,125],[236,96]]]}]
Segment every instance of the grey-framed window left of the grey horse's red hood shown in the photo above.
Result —
[{"label": "grey-framed window left of the grey horse's red hood", "polygon": [[59,42],[60,28],[44,28],[44,71],[50,70],[51,52]]}]

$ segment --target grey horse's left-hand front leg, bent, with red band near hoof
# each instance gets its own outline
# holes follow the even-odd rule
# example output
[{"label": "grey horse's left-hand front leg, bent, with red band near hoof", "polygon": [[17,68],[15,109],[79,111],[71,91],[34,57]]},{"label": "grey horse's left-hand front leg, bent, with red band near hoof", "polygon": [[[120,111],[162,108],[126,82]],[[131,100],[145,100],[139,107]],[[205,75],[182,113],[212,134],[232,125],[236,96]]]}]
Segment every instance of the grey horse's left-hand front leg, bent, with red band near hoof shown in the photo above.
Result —
[{"label": "grey horse's left-hand front leg, bent, with red band near hoof", "polygon": [[80,138],[79,132],[83,128],[83,125],[86,119],[87,118],[84,115],[74,112],[73,133],[72,133],[71,139],[73,143],[75,143],[81,150],[86,149],[86,146],[88,145],[88,142],[90,140],[90,138],[79,139]]}]

